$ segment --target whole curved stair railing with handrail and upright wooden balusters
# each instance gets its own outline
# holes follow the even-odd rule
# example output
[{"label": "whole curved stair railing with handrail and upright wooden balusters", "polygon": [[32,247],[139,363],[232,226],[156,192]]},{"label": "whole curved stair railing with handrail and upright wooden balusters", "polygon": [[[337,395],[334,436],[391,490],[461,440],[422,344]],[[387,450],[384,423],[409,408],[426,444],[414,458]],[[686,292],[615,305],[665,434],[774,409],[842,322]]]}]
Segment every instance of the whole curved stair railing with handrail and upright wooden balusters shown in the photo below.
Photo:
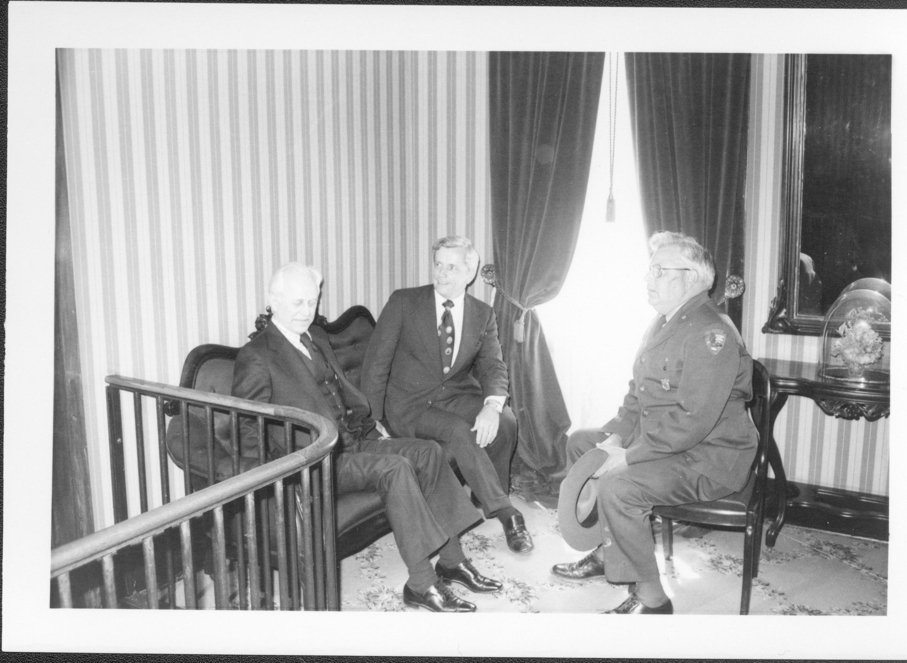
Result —
[{"label": "whole curved stair railing with handrail and upright wooden balusters", "polygon": [[[94,532],[77,541],[71,541],[52,551],[51,577],[57,580],[60,605],[73,606],[70,573],[93,561],[102,561],[102,575],[105,605],[108,608],[117,606],[116,588],[113,572],[113,556],[117,551],[141,543],[144,558],[145,586],[149,608],[158,607],[158,580],[155,561],[155,537],[164,532],[180,530],[180,556],[183,568],[183,596],[187,608],[195,608],[195,569],[192,562],[192,542],[190,521],[200,515],[212,512],[213,547],[214,547],[214,584],[218,608],[227,608],[229,604],[227,590],[226,541],[224,535],[223,507],[229,502],[242,502],[238,506],[237,543],[239,548],[239,594],[240,607],[259,609],[270,602],[270,541],[268,535],[268,507],[261,503],[261,522],[263,557],[268,559],[262,574],[259,567],[258,522],[256,492],[273,486],[273,499],[277,519],[277,558],[278,580],[280,585],[281,609],[338,609],[336,588],[336,556],[334,552],[334,511],[333,487],[331,482],[330,452],[336,444],[335,425],[325,417],[295,407],[269,405],[249,401],[234,396],[200,392],[179,386],[162,385],[146,380],[139,380],[121,375],[109,375],[108,383],[108,422],[111,432],[112,451],[115,444],[123,444],[122,421],[120,417],[120,392],[132,393],[135,404],[135,425],[137,457],[139,462],[139,483],[141,494],[141,513],[117,522],[111,527]],[[141,397],[151,397],[156,401],[158,419],[158,441],[163,463],[166,462],[164,444],[165,407],[174,405],[181,414],[188,413],[189,405],[204,408],[209,421],[207,445],[211,448],[213,429],[213,412],[229,414],[231,440],[233,442],[235,466],[239,468],[239,415],[255,417],[258,421],[259,456],[265,457],[265,431],[268,424],[282,424],[286,439],[293,439],[297,428],[311,432],[312,443],[306,448],[259,465],[245,473],[238,473],[219,483],[213,483],[198,492],[190,492],[187,479],[187,494],[180,499],[169,502],[167,480],[161,479],[164,502],[161,506],[147,511],[147,488],[142,448],[144,432],[141,421]],[[183,421],[184,432],[185,418]],[[317,435],[316,435],[317,433]],[[189,437],[184,437],[186,444],[183,458],[189,458]],[[210,458],[210,455],[209,455]],[[161,466],[166,467],[161,463]],[[212,465],[210,461],[210,465]],[[112,463],[113,464],[113,463]],[[316,471],[313,484],[311,471]],[[188,475],[189,473],[186,472]],[[285,485],[285,480],[295,478],[294,485]],[[213,472],[212,472],[213,478]],[[319,480],[320,479],[320,480]],[[122,483],[124,480],[120,479]],[[114,483],[117,478],[114,477]],[[114,491],[116,493],[116,491]],[[123,486],[123,495],[125,494]],[[116,494],[114,494],[114,497]],[[286,499],[285,499],[286,498]],[[169,502],[169,503],[168,503]],[[285,503],[291,507],[294,517],[286,517]],[[125,505],[122,506],[125,510]],[[240,518],[239,510],[244,517]],[[168,551],[170,554],[171,551]],[[288,556],[291,560],[288,563]],[[248,559],[248,570],[246,561]],[[300,576],[301,572],[301,576]],[[264,576],[266,591],[262,596],[259,580]],[[247,582],[248,580],[248,582]],[[303,589],[302,600],[299,600],[299,585]],[[174,582],[171,578],[171,592]],[[248,589],[248,592],[247,592]],[[243,598],[248,595],[248,600]],[[264,599],[264,601],[262,601]],[[171,595],[171,608],[173,607]]]}]

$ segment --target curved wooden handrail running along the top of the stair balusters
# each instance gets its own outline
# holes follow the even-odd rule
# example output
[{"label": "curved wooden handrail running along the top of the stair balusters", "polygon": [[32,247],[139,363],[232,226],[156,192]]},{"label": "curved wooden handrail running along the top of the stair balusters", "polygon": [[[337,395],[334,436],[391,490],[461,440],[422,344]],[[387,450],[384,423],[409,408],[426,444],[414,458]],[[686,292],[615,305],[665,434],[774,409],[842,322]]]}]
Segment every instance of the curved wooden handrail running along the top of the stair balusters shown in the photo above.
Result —
[{"label": "curved wooden handrail running along the top of the stair balusters", "polygon": [[297,407],[268,405],[235,396],[200,392],[180,386],[163,385],[121,375],[108,375],[109,385],[146,395],[159,395],[187,401],[194,405],[215,405],[242,414],[265,416],[283,421],[285,424],[302,425],[317,431],[317,437],[305,449],[260,465],[248,472],[238,474],[223,482],[215,483],[199,492],[192,492],[175,502],[163,504],[150,512],[118,522],[111,527],[71,541],[51,551],[51,577],[73,570],[90,561],[125,546],[167,530],[189,520],[199,513],[208,512],[237,497],[257,491],[259,488],[283,479],[292,473],[324,458],[331,452],[337,440],[336,426],[320,414],[307,412]]}]

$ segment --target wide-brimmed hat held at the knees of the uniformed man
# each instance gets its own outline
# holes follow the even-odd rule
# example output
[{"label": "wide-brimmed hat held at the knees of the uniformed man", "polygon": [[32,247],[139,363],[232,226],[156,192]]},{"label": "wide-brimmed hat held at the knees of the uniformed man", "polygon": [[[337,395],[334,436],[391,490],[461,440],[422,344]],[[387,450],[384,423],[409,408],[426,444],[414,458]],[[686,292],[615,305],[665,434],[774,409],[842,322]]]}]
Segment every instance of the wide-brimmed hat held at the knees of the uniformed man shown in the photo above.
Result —
[{"label": "wide-brimmed hat held at the knees of the uniformed man", "polygon": [[[590,478],[607,458],[608,452],[603,449],[590,449],[582,454],[561,483],[558,525],[564,541],[578,551],[590,551],[601,543],[599,510],[596,508],[598,492],[596,482]],[[586,486],[589,490],[583,492]]]}]

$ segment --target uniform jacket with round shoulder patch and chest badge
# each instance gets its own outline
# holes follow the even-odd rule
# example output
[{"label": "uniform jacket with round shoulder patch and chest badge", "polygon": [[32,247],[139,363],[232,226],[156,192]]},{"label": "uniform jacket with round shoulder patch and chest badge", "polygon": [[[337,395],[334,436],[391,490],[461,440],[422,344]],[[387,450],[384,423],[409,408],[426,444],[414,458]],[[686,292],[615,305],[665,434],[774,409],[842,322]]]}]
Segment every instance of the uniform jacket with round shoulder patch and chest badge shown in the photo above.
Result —
[{"label": "uniform jacket with round shoulder patch and chest badge", "polygon": [[745,407],[752,376],[736,327],[701,293],[643,340],[623,405],[601,430],[620,435],[628,464],[682,453],[698,473],[739,491],[758,441]]}]

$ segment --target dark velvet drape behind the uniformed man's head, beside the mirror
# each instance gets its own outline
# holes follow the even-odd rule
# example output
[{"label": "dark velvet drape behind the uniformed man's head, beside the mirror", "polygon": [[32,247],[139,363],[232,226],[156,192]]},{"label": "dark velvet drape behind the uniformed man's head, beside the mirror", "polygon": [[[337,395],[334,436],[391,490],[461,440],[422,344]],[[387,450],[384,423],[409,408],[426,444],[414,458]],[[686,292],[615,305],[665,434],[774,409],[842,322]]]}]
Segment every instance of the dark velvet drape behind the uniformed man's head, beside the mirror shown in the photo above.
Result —
[{"label": "dark velvet drape behind the uniformed man's head, beside the mirror", "polygon": [[[630,123],[648,234],[691,235],[715,258],[715,299],[743,276],[749,54],[628,53]],[[741,299],[728,302],[740,327]]]}]

